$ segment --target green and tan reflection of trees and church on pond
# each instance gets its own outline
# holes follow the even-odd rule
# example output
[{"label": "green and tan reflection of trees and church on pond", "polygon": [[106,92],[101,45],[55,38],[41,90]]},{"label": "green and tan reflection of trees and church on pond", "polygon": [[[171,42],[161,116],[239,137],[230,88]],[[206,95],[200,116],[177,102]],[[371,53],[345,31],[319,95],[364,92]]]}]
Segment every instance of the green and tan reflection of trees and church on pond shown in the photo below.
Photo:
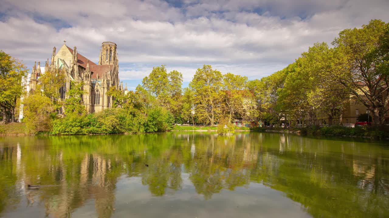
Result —
[{"label": "green and tan reflection of trees and church on pond", "polygon": [[47,216],[68,217],[93,199],[96,214],[110,217],[121,176],[140,177],[153,196],[164,196],[182,189],[185,174],[206,200],[255,182],[314,217],[380,217],[389,213],[388,157],[371,144],[280,134],[6,137],[0,213],[26,201],[43,205]]}]

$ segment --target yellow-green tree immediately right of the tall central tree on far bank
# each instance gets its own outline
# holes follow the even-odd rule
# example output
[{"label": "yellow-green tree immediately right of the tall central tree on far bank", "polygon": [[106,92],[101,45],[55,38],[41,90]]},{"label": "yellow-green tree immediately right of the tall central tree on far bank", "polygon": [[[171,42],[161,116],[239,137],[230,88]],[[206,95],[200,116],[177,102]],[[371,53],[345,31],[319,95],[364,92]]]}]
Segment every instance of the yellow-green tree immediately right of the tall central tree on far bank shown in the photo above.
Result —
[{"label": "yellow-green tree immediately right of the tall central tree on far bank", "polygon": [[223,90],[224,90],[224,103],[228,110],[228,122],[231,123],[231,118],[235,113],[243,115],[244,99],[248,99],[250,96],[248,92],[244,90],[247,83],[247,76],[234,75],[227,73],[223,75]]}]

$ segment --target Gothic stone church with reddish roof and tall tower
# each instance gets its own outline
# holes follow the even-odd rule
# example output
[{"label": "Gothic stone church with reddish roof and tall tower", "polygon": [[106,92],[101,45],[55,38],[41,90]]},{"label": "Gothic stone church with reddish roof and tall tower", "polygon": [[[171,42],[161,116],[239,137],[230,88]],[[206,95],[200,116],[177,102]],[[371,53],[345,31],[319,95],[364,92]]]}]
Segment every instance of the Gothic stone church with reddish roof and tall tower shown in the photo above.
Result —
[{"label": "Gothic stone church with reddish roof and tall tower", "polygon": [[[123,92],[128,91],[127,87],[123,88],[123,82],[119,83],[119,61],[116,47],[116,43],[103,42],[98,64],[78,53],[77,47],[68,47],[66,41],[58,51],[54,47],[51,61],[49,63],[49,59],[47,59],[44,69],[45,71],[65,70],[66,82],[59,90],[60,98],[67,98],[70,81],[84,81],[85,94],[82,99],[88,114],[112,107],[112,98],[107,96],[109,88],[116,87]],[[38,66],[35,62],[28,82],[29,92],[36,89],[41,74],[40,62],[38,62]],[[62,112],[63,110],[60,108],[58,113],[62,114]]]}]

